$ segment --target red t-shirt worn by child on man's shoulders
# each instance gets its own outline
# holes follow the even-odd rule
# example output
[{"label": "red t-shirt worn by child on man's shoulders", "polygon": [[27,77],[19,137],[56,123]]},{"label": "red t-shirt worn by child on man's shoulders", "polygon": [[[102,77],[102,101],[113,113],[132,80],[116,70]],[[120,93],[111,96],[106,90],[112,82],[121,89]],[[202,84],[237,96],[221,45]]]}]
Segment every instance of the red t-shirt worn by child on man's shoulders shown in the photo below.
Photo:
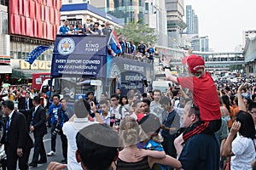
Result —
[{"label": "red t-shirt worn by child on man's shoulders", "polygon": [[208,72],[202,77],[177,77],[177,82],[192,92],[194,105],[200,110],[201,121],[220,119],[217,89]]}]

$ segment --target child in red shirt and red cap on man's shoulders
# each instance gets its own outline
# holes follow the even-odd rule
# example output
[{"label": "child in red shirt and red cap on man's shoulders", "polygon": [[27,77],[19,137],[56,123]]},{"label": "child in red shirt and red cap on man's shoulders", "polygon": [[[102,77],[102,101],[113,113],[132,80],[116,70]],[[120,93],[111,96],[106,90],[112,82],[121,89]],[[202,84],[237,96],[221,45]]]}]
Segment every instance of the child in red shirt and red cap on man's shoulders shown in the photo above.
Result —
[{"label": "child in red shirt and red cap on man's shoulders", "polygon": [[194,107],[198,114],[200,112],[201,121],[188,127],[175,139],[177,156],[183,149],[183,143],[191,136],[199,133],[214,133],[221,126],[217,89],[211,75],[205,71],[204,59],[192,54],[183,59],[183,64],[188,66],[189,77],[174,77],[171,71],[165,71],[166,80],[179,83],[183,88],[189,88],[193,94],[191,107]]}]

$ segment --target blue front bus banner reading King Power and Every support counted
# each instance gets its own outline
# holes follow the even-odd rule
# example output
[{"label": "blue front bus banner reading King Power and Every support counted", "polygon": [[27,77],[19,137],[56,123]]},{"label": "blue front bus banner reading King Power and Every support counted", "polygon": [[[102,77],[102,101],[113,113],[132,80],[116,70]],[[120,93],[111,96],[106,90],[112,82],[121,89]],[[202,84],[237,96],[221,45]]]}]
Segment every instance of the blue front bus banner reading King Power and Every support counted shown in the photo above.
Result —
[{"label": "blue front bus banner reading King Power and Every support counted", "polygon": [[107,62],[108,37],[61,36],[55,39],[52,77],[102,77]]}]

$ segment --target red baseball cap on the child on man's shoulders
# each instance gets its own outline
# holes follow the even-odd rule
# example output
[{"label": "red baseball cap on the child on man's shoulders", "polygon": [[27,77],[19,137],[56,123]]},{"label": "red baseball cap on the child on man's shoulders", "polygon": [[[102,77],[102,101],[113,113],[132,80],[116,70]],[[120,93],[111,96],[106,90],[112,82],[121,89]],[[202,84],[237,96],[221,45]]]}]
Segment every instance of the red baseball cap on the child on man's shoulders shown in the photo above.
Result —
[{"label": "red baseball cap on the child on man's shoulders", "polygon": [[200,69],[205,69],[205,61],[199,55],[189,55],[183,58],[183,65],[187,64],[189,71],[197,73]]}]

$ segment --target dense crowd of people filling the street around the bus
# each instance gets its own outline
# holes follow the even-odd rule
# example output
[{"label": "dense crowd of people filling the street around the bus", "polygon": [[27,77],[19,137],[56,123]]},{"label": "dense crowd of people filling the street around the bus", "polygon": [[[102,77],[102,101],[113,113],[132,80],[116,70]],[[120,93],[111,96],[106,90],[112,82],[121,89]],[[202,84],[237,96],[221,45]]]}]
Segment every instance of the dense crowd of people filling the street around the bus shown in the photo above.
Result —
[{"label": "dense crowd of people filling the street around the bus", "polygon": [[[96,101],[90,92],[73,107],[58,94],[43,105],[44,94],[3,89],[5,167],[16,169],[17,160],[20,169],[46,163],[47,156],[55,156],[60,135],[63,160],[50,162],[49,170],[256,169],[256,87],[242,80],[214,82],[195,54],[183,63],[189,76],[175,77],[166,69],[173,84],[164,93],[123,94],[118,88]],[[49,153],[43,142],[47,124]]]}]

